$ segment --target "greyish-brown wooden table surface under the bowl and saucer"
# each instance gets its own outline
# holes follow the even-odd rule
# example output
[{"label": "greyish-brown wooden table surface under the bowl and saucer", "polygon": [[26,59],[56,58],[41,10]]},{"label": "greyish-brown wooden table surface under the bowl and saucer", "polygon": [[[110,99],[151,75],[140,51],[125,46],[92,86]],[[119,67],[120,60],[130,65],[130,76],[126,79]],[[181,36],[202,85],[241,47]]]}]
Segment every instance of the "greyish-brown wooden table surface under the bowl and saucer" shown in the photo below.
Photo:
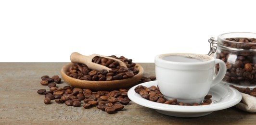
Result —
[{"label": "greyish-brown wooden table surface under the bowl and saucer", "polygon": [[[38,89],[49,87],[40,84],[42,75],[60,75],[67,63],[0,63],[0,125],[7,124],[255,124],[256,113],[243,112],[235,107],[215,111],[196,118],[167,116],[134,102],[114,114],[96,107],[44,104]],[[144,76],[154,75],[154,63],[140,63]],[[63,80],[63,79],[62,79]],[[67,86],[64,82],[58,87]]]}]

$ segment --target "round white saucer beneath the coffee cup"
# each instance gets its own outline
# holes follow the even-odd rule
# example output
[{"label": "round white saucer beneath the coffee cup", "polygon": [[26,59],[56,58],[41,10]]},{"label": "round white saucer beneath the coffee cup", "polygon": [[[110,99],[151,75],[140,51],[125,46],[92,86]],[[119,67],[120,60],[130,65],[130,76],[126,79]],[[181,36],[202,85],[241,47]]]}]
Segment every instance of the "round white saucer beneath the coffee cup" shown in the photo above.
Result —
[{"label": "round white saucer beneath the coffee cup", "polygon": [[[141,83],[139,85],[145,87],[157,86],[156,81]],[[133,102],[154,109],[156,112],[176,116],[176,117],[199,117],[210,114],[214,111],[230,108],[242,100],[240,92],[232,87],[223,85],[222,83],[212,87],[208,94],[212,95],[212,103],[210,105],[200,106],[179,106],[157,103],[154,101],[146,100],[140,94],[134,91],[136,85],[129,89],[128,97]],[[179,101],[179,100],[178,100]]]}]

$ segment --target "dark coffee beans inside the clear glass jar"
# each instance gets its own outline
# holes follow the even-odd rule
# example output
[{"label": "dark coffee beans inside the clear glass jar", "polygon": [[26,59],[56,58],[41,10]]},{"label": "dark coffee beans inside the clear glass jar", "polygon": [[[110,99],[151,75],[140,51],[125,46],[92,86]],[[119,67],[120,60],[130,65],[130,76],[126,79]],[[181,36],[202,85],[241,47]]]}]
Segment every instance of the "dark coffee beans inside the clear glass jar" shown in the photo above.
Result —
[{"label": "dark coffee beans inside the clear glass jar", "polygon": [[[256,85],[256,52],[248,51],[256,49],[256,38],[226,38],[226,40],[232,42],[222,41],[221,45],[243,50],[218,48],[220,51],[217,51],[216,58],[224,61],[227,66],[223,80],[241,86]],[[218,65],[216,69],[218,71]]]}]

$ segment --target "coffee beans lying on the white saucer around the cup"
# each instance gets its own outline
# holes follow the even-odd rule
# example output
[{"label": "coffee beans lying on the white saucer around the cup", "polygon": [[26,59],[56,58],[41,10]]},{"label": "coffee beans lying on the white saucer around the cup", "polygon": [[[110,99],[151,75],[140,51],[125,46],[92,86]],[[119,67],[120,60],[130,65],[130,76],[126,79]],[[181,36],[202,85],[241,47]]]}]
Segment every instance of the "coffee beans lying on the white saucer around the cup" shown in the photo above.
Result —
[{"label": "coffee beans lying on the white saucer around the cup", "polygon": [[[140,94],[142,98],[146,100],[151,100],[158,103],[164,103],[164,104],[171,104],[171,105],[185,105],[185,106],[191,106],[191,104],[178,102],[177,99],[173,100],[166,100],[166,98],[163,96],[163,94],[160,92],[159,88],[156,86],[151,87],[145,87],[145,86],[137,86],[134,88],[135,92]],[[212,103],[211,95],[206,95],[205,100],[199,104],[199,103],[193,103],[193,106],[196,105],[209,105]]]}]

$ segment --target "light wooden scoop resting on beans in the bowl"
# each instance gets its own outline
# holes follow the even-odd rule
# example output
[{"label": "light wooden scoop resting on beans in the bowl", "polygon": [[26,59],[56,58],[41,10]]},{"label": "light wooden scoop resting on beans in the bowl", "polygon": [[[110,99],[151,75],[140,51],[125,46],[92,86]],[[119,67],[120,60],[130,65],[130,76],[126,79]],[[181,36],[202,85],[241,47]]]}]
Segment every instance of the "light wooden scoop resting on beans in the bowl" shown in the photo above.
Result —
[{"label": "light wooden scoop resting on beans in the bowl", "polygon": [[72,63],[82,63],[82,64],[86,64],[90,69],[92,70],[96,70],[96,71],[101,71],[102,69],[105,69],[107,70],[108,72],[111,70],[110,68],[104,66],[104,65],[101,65],[101,64],[98,64],[98,63],[93,63],[92,62],[92,59],[95,57],[95,56],[99,56],[99,57],[103,57],[103,58],[107,58],[107,59],[111,59],[111,60],[115,60],[119,63],[120,66],[124,66],[125,68],[127,68],[126,64],[118,59],[115,59],[113,57],[109,57],[109,56],[103,56],[103,55],[99,55],[99,54],[92,54],[90,56],[85,56],[85,55],[82,55],[78,52],[73,52],[71,55],[70,55],[70,61]]}]

